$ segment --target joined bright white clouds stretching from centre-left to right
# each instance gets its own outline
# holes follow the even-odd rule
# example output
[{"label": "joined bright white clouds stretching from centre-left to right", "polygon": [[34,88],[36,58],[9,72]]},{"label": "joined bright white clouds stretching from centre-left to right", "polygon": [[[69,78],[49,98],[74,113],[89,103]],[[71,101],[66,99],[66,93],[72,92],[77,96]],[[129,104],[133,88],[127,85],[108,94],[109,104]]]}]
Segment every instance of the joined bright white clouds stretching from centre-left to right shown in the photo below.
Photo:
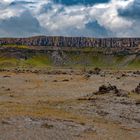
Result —
[{"label": "joined bright white clouds stretching from centre-left to right", "polygon": [[[112,0],[109,3],[93,6],[79,5],[69,7],[52,4],[50,11],[37,15],[37,18],[40,24],[50,31],[73,27],[84,29],[89,21],[97,20],[101,26],[116,33],[117,36],[120,35],[120,30],[124,32],[133,25],[133,21],[129,21],[118,15],[118,9],[127,7],[133,1]],[[61,9],[63,10],[61,11]]]}]

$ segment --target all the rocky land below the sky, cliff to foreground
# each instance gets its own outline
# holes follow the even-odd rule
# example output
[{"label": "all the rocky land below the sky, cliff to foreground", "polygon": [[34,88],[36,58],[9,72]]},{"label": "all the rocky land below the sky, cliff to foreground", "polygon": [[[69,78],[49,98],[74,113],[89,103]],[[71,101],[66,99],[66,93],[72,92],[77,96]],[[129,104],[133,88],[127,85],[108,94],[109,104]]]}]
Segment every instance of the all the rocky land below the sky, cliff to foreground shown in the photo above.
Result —
[{"label": "all the rocky land below the sky, cliff to foreground", "polygon": [[139,140],[139,38],[0,44],[0,140]]}]

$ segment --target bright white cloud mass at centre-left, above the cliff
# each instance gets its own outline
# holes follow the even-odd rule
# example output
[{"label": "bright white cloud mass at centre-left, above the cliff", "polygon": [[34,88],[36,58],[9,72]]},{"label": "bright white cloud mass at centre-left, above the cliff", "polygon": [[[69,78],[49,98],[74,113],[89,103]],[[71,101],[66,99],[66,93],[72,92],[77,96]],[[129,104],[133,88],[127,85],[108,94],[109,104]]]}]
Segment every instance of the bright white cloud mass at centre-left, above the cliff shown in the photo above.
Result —
[{"label": "bright white cloud mass at centre-left, above the cliff", "polygon": [[46,13],[37,16],[40,24],[50,30],[60,30],[75,27],[82,29],[89,22],[86,8],[81,6],[63,7],[54,5]]}]

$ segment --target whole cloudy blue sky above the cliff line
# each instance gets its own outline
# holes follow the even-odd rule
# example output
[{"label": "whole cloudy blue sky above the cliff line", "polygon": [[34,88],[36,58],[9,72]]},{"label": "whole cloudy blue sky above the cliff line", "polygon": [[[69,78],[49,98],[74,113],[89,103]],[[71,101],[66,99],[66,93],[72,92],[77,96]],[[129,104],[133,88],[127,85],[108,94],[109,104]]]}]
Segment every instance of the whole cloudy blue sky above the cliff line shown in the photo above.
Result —
[{"label": "whole cloudy blue sky above the cliff line", "polygon": [[0,0],[0,37],[140,37],[140,0]]}]

